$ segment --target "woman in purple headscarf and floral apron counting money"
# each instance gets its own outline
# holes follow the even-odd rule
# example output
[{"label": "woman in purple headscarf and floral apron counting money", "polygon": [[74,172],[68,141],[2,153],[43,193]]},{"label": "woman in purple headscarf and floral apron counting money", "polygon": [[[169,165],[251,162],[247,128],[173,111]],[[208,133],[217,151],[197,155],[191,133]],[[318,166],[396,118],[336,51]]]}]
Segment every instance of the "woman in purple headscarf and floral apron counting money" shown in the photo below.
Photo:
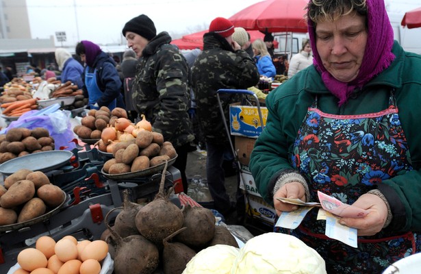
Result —
[{"label": "woman in purple headscarf and floral apron counting money", "polygon": [[[421,250],[421,56],[394,41],[383,0],[310,0],[307,23],[314,64],[268,95],[251,172],[277,215],[298,209],[278,198],[318,191],[366,210],[327,222],[313,209],[276,230],[316,249],[328,273],[381,273]],[[339,223],[357,247],[329,234]]]}]

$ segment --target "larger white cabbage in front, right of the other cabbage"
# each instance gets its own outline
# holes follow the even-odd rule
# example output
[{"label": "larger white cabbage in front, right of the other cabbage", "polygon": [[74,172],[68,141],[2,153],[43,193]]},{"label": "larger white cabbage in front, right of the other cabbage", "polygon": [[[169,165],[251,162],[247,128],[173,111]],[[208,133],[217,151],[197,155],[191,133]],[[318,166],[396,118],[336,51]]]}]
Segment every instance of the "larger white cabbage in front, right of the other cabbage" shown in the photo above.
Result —
[{"label": "larger white cabbage in front, right of the other cabbage", "polygon": [[[209,259],[210,260],[210,259]],[[294,236],[270,232],[255,236],[240,249],[231,274],[326,274],[324,260]]]}]

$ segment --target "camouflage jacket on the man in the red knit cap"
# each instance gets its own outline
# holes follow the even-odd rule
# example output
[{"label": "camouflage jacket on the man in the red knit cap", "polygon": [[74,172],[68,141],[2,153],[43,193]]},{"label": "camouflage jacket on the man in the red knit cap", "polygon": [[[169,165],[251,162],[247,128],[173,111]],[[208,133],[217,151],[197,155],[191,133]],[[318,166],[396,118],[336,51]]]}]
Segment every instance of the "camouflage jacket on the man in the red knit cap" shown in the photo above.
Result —
[{"label": "camouflage jacket on the man in the red knit cap", "polygon": [[[259,71],[246,51],[234,51],[229,42],[218,34],[205,34],[203,42],[203,51],[194,61],[190,72],[196,112],[207,141],[228,142],[216,91],[255,86],[259,82]],[[240,101],[240,98],[238,95],[222,94],[220,99],[228,121],[229,104]]]}]

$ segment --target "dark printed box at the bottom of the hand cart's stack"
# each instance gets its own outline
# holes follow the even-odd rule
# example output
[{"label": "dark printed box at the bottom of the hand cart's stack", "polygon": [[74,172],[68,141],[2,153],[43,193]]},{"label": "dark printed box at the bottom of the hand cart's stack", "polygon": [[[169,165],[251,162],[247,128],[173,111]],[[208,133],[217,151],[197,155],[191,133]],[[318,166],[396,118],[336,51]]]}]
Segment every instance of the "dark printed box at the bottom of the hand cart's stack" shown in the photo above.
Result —
[{"label": "dark printed box at the bottom of the hand cart's stack", "polygon": [[248,195],[246,198],[246,212],[249,216],[275,225],[277,212],[261,197]]}]

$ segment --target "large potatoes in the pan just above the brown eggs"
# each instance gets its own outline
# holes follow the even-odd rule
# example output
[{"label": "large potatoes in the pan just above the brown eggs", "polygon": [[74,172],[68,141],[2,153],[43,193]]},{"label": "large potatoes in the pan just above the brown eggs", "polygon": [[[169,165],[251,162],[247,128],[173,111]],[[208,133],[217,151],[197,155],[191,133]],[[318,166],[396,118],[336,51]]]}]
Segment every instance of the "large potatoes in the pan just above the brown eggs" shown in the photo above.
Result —
[{"label": "large potatoes in the pan just above the brown eggs", "polygon": [[42,171],[19,169],[0,185],[0,225],[23,223],[57,208],[66,199]]}]

